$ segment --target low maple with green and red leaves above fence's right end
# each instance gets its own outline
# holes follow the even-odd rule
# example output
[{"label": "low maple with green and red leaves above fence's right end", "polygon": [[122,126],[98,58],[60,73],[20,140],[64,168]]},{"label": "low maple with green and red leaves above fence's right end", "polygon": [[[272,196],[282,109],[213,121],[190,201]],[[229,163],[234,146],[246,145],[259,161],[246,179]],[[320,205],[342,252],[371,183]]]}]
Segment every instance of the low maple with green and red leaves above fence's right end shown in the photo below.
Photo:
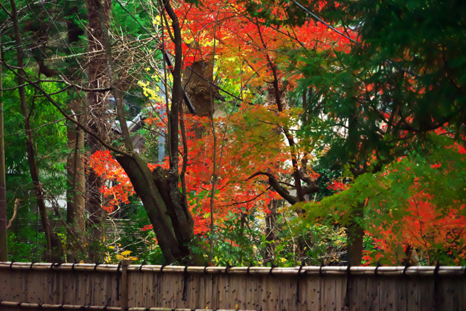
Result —
[{"label": "low maple with green and red leaves above fence's right end", "polygon": [[[461,264],[465,260],[464,147],[432,134],[428,151],[410,153],[376,174],[365,173],[338,193],[304,208],[307,221],[348,223],[362,205],[368,264]],[[331,185],[331,187],[335,187]]]}]

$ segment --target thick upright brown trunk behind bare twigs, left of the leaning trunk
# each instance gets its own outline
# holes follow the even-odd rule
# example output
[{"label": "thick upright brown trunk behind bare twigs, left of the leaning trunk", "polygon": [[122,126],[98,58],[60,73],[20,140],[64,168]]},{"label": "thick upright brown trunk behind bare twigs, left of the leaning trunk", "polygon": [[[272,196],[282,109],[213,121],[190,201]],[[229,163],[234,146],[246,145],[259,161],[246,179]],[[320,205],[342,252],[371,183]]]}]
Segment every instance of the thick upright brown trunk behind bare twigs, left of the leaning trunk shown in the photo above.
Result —
[{"label": "thick upright brown trunk behind bare twigs, left of the leaning trunk", "polygon": [[[106,71],[106,59],[104,55],[104,46],[102,45],[104,35],[102,23],[108,23],[110,13],[110,0],[103,1],[103,10],[101,10],[100,0],[87,0],[86,6],[88,10],[88,52],[92,55],[88,63],[88,79],[90,88],[102,88],[108,85],[108,76]],[[103,11],[103,12],[101,12]],[[95,53],[95,51],[100,51]],[[89,92],[86,98],[86,106],[88,109],[88,128],[94,133],[97,133],[106,140],[108,135],[108,118],[107,111],[108,93]],[[102,145],[93,137],[87,136],[90,154],[95,151],[103,150]],[[99,261],[101,259],[101,241],[104,239],[104,220],[105,212],[101,206],[102,180],[93,171],[90,171],[86,180],[86,209],[89,214],[88,229],[90,230],[91,241],[89,241],[89,259],[91,261]]]}]

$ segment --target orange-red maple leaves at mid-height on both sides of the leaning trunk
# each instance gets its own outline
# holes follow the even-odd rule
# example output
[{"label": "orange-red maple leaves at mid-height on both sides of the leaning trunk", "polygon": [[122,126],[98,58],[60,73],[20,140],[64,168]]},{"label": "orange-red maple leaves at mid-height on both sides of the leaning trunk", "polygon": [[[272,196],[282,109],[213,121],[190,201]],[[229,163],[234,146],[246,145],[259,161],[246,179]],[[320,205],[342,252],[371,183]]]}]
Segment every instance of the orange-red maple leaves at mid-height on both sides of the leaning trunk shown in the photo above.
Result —
[{"label": "orange-red maple leaves at mid-height on both sides of the leaning trunk", "polygon": [[[266,181],[249,179],[255,171],[269,170],[274,174],[290,173],[287,163],[289,151],[284,139],[274,131],[277,124],[288,126],[298,115],[276,114],[264,106],[246,107],[228,118],[215,120],[217,135],[221,140],[217,144],[217,193],[215,194],[215,219],[222,221],[230,212],[255,211],[267,212],[267,206],[278,194],[270,190]],[[153,121],[150,121],[153,123]],[[184,120],[188,133],[188,169],[186,171],[186,190],[188,205],[195,218],[195,234],[208,231],[210,225],[210,191],[213,174],[213,135],[209,132],[210,120],[195,116],[186,116]],[[247,126],[246,126],[247,124]],[[193,128],[202,127],[206,135],[195,138]],[[179,157],[182,162],[182,156]],[[219,165],[220,164],[220,165]],[[162,164],[149,164],[153,169]],[[113,211],[119,204],[127,203],[134,194],[128,176],[112,158],[110,151],[98,151],[90,158],[90,167],[102,178],[106,185],[101,188],[108,198],[105,209]],[[182,167],[179,168],[180,171]]]}]

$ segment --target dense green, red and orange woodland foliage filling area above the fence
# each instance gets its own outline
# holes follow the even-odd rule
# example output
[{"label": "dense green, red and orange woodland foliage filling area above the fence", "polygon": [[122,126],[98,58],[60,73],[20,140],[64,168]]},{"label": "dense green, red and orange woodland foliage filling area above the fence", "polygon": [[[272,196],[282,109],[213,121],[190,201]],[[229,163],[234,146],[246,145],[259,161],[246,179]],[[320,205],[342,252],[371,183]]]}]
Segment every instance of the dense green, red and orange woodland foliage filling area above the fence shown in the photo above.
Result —
[{"label": "dense green, red and orange woodland foliage filling area above the fence", "polygon": [[[26,118],[61,260],[465,265],[465,4],[161,3],[97,6],[110,36],[95,56],[93,1],[43,19],[18,1],[24,70],[0,28],[10,259],[48,252]],[[181,86],[197,113],[177,111]]]}]

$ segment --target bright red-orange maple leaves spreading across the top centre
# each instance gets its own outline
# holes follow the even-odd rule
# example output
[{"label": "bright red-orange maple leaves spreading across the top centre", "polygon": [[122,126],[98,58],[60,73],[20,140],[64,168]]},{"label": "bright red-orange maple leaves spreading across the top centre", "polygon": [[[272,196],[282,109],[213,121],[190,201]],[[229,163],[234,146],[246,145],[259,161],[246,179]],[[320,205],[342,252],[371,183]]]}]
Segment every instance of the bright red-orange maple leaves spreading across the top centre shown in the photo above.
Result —
[{"label": "bright red-orange maple leaves spreading across the top centre", "polygon": [[[286,19],[281,5],[269,8],[277,19]],[[263,9],[259,9],[263,10]],[[302,26],[273,26],[263,18],[251,16],[242,1],[202,1],[202,6],[180,1],[177,15],[182,19],[184,66],[207,62],[215,54],[216,75],[231,79],[240,91],[263,86],[278,66],[280,82],[286,79],[289,89],[295,86],[299,73],[286,70],[287,52],[300,48],[349,51],[349,40],[315,21]],[[343,28],[338,28],[344,31]],[[351,37],[356,35],[349,31]],[[214,51],[215,46],[215,51]],[[173,50],[173,46],[168,45]],[[247,97],[244,101],[249,100]]]}]

